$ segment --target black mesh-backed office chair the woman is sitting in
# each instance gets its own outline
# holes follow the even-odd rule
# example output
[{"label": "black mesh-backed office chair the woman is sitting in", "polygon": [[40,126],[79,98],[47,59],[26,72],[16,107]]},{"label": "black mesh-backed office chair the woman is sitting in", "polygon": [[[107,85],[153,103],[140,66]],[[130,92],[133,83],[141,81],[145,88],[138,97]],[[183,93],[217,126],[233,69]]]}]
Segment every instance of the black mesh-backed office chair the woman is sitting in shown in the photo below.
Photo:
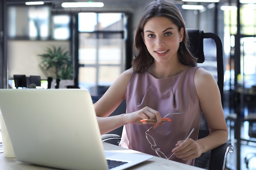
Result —
[{"label": "black mesh-backed office chair the woman is sitting in", "polygon": [[[189,50],[198,58],[198,66],[206,69],[213,74],[218,87],[220,89],[221,101],[223,105],[223,59],[222,59],[222,43],[220,38],[214,33],[204,33],[198,29],[186,29],[189,35]],[[207,122],[202,114],[200,120],[200,128],[198,139],[206,137],[209,134]],[[102,141],[108,142],[116,140],[119,144],[121,139],[117,134],[111,136],[109,134],[101,135]],[[195,166],[209,170],[225,170],[226,157],[228,152],[233,152],[234,148],[230,142],[226,142],[222,146],[215,148],[209,152],[203,153],[195,159]]]}]

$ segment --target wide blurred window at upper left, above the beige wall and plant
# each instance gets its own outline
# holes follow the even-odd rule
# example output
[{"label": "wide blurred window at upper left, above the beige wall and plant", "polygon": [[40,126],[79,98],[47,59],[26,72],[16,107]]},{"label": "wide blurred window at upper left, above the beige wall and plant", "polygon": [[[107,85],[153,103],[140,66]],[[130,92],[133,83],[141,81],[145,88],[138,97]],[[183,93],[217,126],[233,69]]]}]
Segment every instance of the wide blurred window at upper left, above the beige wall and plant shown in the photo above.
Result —
[{"label": "wide blurred window at upper left, above the beige wall and plant", "polygon": [[69,40],[70,15],[52,15],[49,6],[8,7],[8,37],[22,40]]}]

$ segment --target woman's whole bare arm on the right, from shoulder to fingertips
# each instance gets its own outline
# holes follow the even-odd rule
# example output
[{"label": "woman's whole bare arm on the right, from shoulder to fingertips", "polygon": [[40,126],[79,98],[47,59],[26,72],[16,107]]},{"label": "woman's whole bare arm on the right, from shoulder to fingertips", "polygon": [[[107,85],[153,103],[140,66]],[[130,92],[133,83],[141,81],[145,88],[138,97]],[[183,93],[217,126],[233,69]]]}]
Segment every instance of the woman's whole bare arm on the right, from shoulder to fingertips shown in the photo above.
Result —
[{"label": "woman's whole bare arm on the right, from shoulder to fingertips", "polygon": [[196,141],[192,139],[183,143],[178,141],[173,152],[178,158],[184,160],[200,157],[202,153],[224,144],[228,138],[220,91],[213,75],[203,68],[198,68],[194,81],[200,107],[209,126],[210,134]]}]

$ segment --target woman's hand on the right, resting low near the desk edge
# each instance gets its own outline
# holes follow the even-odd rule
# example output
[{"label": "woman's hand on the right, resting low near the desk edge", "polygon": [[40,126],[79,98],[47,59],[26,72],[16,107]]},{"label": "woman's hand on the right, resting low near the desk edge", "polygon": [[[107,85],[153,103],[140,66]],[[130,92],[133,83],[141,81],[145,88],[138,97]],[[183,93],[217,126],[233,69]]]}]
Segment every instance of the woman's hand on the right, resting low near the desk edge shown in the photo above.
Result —
[{"label": "woman's hand on the right, resting low near the desk edge", "polygon": [[202,152],[200,151],[199,144],[193,139],[189,138],[186,141],[177,141],[176,147],[172,150],[177,158],[184,161],[200,157]]}]

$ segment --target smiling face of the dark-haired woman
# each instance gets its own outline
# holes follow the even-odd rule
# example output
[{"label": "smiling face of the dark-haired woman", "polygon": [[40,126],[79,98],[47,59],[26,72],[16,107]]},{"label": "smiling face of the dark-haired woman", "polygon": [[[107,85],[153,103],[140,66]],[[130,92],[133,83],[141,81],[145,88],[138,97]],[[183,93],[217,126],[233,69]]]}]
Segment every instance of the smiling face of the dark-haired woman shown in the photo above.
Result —
[{"label": "smiling face of the dark-haired woman", "polygon": [[177,60],[183,34],[184,28],[179,32],[178,27],[166,17],[150,18],[144,26],[144,32],[141,32],[148,52],[159,63]]}]

